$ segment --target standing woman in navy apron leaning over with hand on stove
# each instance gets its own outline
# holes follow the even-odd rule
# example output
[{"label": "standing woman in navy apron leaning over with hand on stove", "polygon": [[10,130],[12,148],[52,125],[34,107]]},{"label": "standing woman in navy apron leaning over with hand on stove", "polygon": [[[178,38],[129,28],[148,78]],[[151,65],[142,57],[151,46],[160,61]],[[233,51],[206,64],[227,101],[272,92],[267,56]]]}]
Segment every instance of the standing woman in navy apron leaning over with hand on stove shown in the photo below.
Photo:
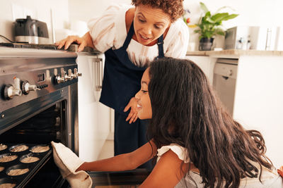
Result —
[{"label": "standing woman in navy apron leaning over with hand on stove", "polygon": [[[183,58],[189,32],[183,20],[183,0],[132,0],[133,6],[110,6],[91,19],[83,37],[58,42],[79,51],[91,46],[105,53],[100,102],[115,109],[115,155],[134,151],[146,143],[146,120],[137,118],[141,76],[154,58]],[[132,124],[132,125],[129,125]]]}]

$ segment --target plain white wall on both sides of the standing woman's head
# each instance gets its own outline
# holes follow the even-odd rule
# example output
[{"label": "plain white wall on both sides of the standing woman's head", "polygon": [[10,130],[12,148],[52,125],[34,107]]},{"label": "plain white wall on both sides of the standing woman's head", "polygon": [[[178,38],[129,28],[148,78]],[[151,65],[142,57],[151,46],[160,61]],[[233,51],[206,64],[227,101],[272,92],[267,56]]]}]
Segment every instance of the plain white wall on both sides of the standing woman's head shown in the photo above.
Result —
[{"label": "plain white wall on both sides of the standing woman's head", "polygon": [[[83,20],[87,22],[89,18],[101,15],[109,4],[130,4],[131,2],[131,0],[69,0],[70,20]],[[231,8],[225,8],[223,11],[239,14],[237,18],[224,22],[226,29],[236,25],[283,26],[281,15],[283,7],[282,0],[203,0],[202,2],[206,4],[212,13],[215,13],[222,6],[230,6],[234,11]],[[185,0],[184,6],[185,8],[189,8],[191,12],[191,23],[197,23],[202,15],[200,1]],[[195,46],[197,46],[198,35],[193,31],[194,29],[190,28],[190,43],[195,43]],[[224,37],[216,37],[215,43],[216,47],[224,46]]]}]

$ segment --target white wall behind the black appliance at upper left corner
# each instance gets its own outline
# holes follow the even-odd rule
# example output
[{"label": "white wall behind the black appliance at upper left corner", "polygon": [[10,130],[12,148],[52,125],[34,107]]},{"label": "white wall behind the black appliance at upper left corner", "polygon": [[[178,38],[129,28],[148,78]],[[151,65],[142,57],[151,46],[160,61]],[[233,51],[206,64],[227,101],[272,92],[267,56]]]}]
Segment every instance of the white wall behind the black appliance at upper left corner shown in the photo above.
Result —
[{"label": "white wall behind the black appliance at upper left corner", "polygon": [[[62,29],[69,24],[68,0],[0,0],[0,35],[14,41],[13,23],[16,18],[31,18],[47,23],[52,42],[51,14],[54,15],[54,29]],[[0,42],[7,42],[0,37]]]}]

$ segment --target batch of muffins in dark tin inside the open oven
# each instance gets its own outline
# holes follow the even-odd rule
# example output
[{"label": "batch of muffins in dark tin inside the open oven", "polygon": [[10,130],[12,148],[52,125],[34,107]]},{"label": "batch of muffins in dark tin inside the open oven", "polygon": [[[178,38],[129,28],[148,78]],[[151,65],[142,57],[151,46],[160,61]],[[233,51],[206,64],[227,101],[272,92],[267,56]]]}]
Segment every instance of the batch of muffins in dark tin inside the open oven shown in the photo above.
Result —
[{"label": "batch of muffins in dark tin inside the open oven", "polygon": [[0,144],[0,188],[21,187],[47,153],[48,145]]}]

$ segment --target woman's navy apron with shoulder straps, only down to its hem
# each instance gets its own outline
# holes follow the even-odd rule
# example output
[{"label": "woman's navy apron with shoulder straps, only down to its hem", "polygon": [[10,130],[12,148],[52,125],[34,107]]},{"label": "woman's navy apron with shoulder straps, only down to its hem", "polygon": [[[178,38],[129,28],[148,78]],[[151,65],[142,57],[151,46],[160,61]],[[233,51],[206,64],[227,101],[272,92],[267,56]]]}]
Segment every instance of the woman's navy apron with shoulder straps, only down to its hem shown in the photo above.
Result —
[{"label": "woman's navy apron with shoulder straps, only down to its hem", "polygon": [[[105,68],[100,102],[124,115],[129,100],[141,89],[141,77],[146,67],[137,67],[129,60],[127,47],[134,35],[132,23],[127,38],[120,49],[105,51]],[[158,58],[163,54],[163,35],[158,38]]]}]

